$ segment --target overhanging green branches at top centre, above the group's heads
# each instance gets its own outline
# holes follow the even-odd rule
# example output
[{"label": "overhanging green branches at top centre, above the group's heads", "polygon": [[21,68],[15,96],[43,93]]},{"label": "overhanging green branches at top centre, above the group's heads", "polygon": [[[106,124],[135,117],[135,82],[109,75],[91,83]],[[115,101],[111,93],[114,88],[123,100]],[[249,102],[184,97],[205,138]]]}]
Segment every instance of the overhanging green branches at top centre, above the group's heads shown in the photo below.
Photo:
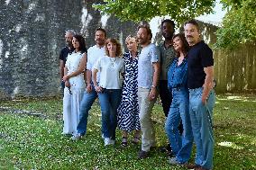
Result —
[{"label": "overhanging green branches at top centre, above the group's heads", "polygon": [[104,4],[94,4],[94,7],[123,21],[149,21],[155,16],[169,15],[182,23],[204,13],[212,13],[214,5],[215,0],[105,0]]}]

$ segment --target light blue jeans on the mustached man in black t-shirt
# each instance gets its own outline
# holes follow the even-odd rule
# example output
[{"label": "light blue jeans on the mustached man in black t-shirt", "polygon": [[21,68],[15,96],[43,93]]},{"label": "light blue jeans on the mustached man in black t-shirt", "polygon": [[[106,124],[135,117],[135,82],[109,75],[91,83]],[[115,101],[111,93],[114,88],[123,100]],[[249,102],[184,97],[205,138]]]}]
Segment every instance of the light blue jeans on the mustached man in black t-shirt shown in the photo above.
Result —
[{"label": "light blue jeans on the mustached man in black t-shirt", "polygon": [[189,114],[197,147],[195,163],[212,169],[215,144],[212,121],[215,92],[211,90],[206,104],[202,103],[202,93],[202,87],[189,89]]}]

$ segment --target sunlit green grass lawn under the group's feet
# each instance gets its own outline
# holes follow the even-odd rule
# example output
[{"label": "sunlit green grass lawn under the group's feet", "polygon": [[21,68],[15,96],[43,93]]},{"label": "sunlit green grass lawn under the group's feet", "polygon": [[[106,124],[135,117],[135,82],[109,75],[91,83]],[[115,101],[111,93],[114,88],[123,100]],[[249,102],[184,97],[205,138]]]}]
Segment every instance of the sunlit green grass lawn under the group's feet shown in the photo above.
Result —
[{"label": "sunlit green grass lawn under the group's feet", "polygon": [[[184,169],[170,166],[158,149],[137,160],[140,145],[121,148],[120,130],[115,147],[105,148],[97,103],[88,118],[86,137],[73,141],[61,135],[61,110],[58,98],[0,102],[0,169]],[[158,146],[166,145],[160,104],[153,109],[153,120]],[[214,169],[256,169],[255,127],[256,94],[217,96]]]}]

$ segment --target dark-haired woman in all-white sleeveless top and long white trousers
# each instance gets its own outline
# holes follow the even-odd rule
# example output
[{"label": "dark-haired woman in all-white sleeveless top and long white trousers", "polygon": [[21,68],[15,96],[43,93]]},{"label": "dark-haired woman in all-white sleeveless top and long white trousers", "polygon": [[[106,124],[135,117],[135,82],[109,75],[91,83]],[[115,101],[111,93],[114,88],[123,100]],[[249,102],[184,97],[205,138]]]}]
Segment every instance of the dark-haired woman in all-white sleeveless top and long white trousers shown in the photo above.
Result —
[{"label": "dark-haired woman in all-white sleeveless top and long white trousers", "polygon": [[62,78],[65,82],[62,133],[65,135],[77,131],[79,104],[85,91],[84,71],[87,66],[87,48],[83,36],[75,35],[72,44],[75,50],[67,58]]}]

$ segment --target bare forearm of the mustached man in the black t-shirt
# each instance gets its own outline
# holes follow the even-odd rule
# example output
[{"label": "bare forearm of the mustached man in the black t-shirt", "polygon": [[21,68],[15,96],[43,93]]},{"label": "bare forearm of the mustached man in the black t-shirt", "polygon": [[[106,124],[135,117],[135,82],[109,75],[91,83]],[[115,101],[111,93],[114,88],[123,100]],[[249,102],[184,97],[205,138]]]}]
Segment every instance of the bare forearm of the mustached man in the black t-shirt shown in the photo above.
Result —
[{"label": "bare forearm of the mustached man in the black t-shirt", "polygon": [[205,84],[203,85],[202,103],[206,104],[207,97],[213,88],[214,67],[204,67],[204,71],[206,73],[206,79]]}]

